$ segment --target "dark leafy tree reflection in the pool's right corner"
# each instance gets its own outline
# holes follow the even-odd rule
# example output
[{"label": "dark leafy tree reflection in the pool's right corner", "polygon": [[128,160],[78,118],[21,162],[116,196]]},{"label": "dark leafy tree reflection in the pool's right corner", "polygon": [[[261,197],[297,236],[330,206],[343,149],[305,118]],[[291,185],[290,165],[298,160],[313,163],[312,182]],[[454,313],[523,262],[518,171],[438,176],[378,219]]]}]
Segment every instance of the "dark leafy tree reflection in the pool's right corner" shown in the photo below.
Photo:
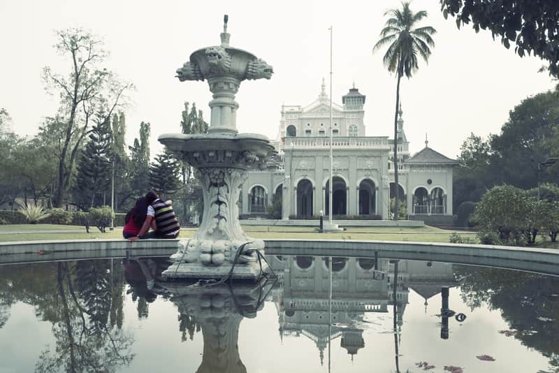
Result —
[{"label": "dark leafy tree reflection in the pool's right corner", "polygon": [[500,309],[507,334],[549,358],[559,372],[559,279],[496,268],[457,267],[462,299],[470,309]]}]

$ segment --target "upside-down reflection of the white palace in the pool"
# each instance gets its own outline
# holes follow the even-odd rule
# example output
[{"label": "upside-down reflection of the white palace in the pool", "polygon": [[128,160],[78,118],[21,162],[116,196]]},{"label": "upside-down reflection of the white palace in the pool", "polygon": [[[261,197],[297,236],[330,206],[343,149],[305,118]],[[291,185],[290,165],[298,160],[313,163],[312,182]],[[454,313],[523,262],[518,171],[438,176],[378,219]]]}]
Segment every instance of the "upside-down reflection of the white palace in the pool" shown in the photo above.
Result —
[{"label": "upside-down reflection of the white palace in the pool", "polygon": [[[282,284],[273,291],[280,336],[312,339],[321,364],[328,342],[338,338],[353,360],[365,346],[361,328],[365,314],[388,313],[388,306],[395,304],[399,328],[410,289],[425,299],[427,312],[428,299],[440,293],[442,286],[456,286],[452,265],[447,263],[333,257],[331,277],[328,261],[329,257],[319,256],[270,259]],[[330,310],[334,326],[328,328]]]}]

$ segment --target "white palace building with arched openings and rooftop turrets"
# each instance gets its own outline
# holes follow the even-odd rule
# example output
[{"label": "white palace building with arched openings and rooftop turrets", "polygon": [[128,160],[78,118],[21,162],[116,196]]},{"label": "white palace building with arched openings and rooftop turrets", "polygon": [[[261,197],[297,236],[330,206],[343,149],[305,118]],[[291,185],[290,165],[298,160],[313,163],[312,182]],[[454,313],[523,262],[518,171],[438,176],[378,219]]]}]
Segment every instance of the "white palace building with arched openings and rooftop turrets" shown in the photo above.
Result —
[{"label": "white palace building with arched openings and rooftop turrets", "polygon": [[[355,87],[333,105],[333,213],[340,219],[390,219],[395,193],[393,140],[365,136],[365,95]],[[426,146],[410,156],[402,109],[398,118],[399,196],[409,219],[451,224],[452,170],[457,162]],[[282,105],[278,155],[242,185],[241,217],[265,217],[281,203],[282,219],[328,215],[330,98],[324,80],[307,106]],[[357,217],[361,215],[360,217]],[[364,215],[364,216],[363,216]]]}]

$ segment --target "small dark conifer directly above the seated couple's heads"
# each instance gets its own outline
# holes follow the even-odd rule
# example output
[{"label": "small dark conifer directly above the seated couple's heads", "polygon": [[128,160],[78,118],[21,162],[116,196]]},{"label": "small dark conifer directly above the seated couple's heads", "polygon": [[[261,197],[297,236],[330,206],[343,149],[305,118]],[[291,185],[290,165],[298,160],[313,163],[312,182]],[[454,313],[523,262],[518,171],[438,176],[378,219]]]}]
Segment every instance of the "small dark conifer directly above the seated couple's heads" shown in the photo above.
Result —
[{"label": "small dark conifer directly above the seated couple's heads", "polygon": [[151,189],[156,191],[161,199],[173,196],[181,186],[179,171],[180,165],[173,154],[158,154],[150,165]]}]

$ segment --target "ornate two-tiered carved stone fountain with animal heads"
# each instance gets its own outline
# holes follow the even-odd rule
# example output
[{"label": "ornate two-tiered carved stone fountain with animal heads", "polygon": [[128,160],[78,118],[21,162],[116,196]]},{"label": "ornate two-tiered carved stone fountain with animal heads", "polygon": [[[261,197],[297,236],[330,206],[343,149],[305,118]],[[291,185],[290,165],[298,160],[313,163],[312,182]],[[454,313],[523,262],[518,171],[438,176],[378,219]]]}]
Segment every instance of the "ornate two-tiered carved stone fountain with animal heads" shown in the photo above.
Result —
[{"label": "ornate two-tiered carved stone fountain with animal heads", "polygon": [[266,166],[275,149],[265,136],[238,133],[235,94],[242,80],[270,79],[273,68],[254,54],[229,46],[229,37],[225,15],[221,45],[196,50],[177,69],[181,82],[208,81],[213,94],[209,133],[159,136],[159,142],[195,168],[204,205],[200,228],[171,256],[174,263],[163,272],[165,278],[257,279],[266,270],[257,253],[263,254],[263,241],[242,231],[237,203],[247,171]]}]

